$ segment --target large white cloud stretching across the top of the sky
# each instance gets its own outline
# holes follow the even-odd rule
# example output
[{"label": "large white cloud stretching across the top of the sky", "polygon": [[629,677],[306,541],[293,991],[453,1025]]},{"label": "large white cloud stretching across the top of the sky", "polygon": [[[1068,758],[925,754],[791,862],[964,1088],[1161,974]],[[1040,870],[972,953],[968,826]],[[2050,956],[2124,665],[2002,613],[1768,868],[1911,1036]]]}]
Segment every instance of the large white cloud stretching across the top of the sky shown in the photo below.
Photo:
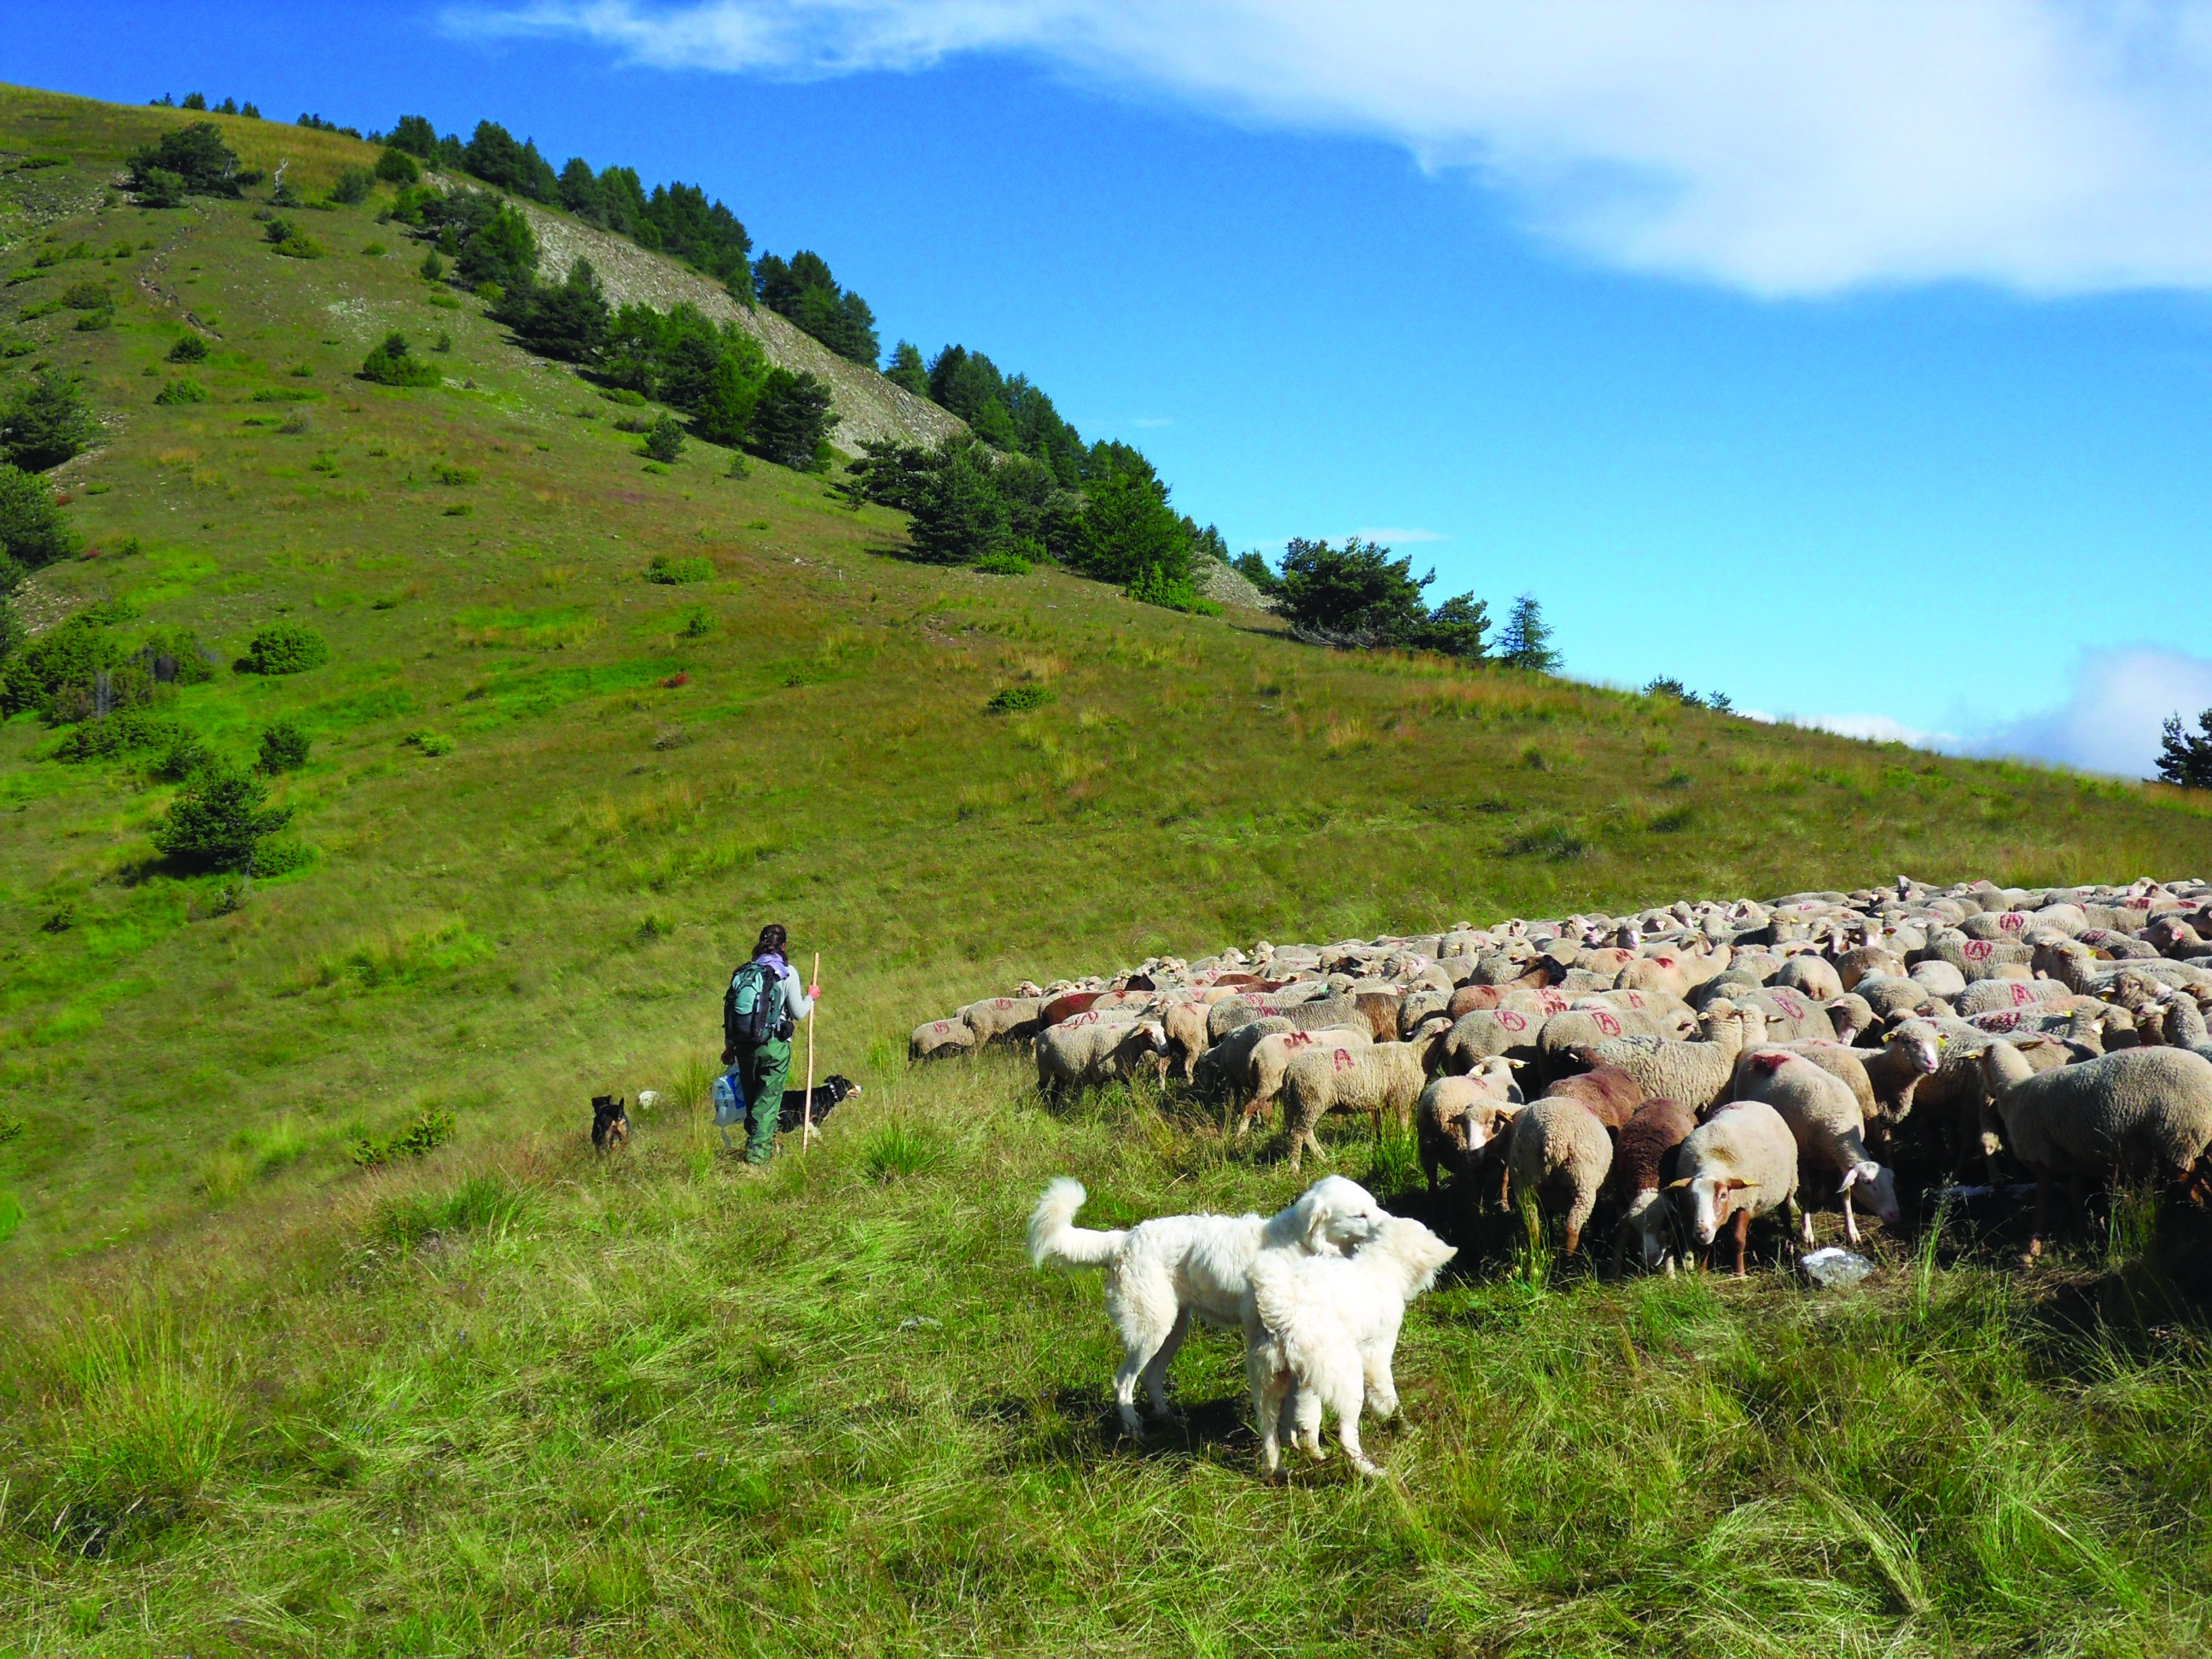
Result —
[{"label": "large white cloud stretching across the top of the sky", "polygon": [[1018,53],[1471,168],[1604,263],[1756,294],[2212,285],[2212,0],[540,0],[783,77]]}]

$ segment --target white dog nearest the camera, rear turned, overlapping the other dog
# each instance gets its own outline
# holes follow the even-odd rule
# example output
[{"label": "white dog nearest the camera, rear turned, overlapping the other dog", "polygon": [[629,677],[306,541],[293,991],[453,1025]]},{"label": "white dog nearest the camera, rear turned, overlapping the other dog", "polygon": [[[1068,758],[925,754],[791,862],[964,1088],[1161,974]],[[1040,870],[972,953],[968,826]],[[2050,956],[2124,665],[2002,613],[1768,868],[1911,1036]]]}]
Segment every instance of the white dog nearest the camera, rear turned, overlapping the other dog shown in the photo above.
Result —
[{"label": "white dog nearest the camera, rear turned, overlapping the other dog", "polygon": [[1252,1263],[1245,1374],[1265,1473],[1281,1464],[1285,1422],[1298,1444],[1323,1455],[1323,1407],[1336,1413],[1352,1467],[1383,1473],[1360,1451],[1360,1407],[1378,1418],[1398,1413],[1391,1356],[1405,1305],[1455,1254],[1418,1221],[1383,1217],[1376,1237],[1352,1256],[1265,1252]]}]

